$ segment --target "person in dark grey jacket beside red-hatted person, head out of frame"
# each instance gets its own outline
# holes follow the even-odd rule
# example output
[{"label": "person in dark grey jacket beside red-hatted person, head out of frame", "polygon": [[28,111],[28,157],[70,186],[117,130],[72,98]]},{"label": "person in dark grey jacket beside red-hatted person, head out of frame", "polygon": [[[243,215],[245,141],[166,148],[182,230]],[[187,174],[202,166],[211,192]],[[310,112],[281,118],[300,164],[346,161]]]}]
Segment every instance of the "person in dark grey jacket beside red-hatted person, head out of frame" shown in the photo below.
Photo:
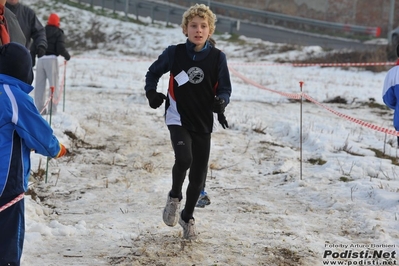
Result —
[{"label": "person in dark grey jacket beside red-hatted person, head out of frame", "polygon": [[19,3],[19,0],[7,0],[6,7],[10,9],[18,19],[19,26],[25,35],[25,47],[31,51],[32,66],[34,66],[36,55],[38,58],[42,57],[47,49],[44,27],[37,18],[35,11]]}]

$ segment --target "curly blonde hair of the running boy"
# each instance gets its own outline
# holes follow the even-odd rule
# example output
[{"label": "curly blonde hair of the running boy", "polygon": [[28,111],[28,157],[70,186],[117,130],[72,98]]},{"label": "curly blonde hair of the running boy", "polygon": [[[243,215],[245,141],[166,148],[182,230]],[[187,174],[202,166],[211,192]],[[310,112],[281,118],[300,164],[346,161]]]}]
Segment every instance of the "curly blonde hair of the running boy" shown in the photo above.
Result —
[{"label": "curly blonde hair of the running boy", "polygon": [[183,29],[183,33],[187,30],[188,23],[195,17],[199,16],[200,18],[208,20],[209,24],[209,34],[212,35],[215,32],[216,28],[216,15],[209,9],[208,6],[204,4],[195,4],[186,10],[183,14],[183,19],[181,22],[181,27]]}]

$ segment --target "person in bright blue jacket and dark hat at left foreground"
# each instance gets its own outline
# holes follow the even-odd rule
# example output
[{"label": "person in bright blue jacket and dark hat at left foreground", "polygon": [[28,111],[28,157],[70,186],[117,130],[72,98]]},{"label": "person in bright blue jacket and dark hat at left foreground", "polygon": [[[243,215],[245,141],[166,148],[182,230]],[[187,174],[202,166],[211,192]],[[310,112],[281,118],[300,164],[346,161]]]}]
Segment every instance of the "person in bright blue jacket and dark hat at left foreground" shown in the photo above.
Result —
[{"label": "person in bright blue jacket and dark hat at left foreground", "polygon": [[37,110],[32,97],[32,59],[23,45],[0,46],[0,265],[19,266],[32,151],[59,158],[64,145]]}]

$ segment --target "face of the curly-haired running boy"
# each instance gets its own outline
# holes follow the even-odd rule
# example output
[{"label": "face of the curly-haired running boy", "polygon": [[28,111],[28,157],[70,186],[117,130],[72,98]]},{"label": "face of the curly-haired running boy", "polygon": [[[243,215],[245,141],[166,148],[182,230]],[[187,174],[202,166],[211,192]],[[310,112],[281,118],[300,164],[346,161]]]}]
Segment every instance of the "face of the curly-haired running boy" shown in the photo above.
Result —
[{"label": "face of the curly-haired running boy", "polygon": [[196,45],[196,51],[201,50],[204,47],[206,40],[211,36],[209,34],[208,20],[195,16],[188,22],[187,28],[183,33],[187,35],[190,42]]}]

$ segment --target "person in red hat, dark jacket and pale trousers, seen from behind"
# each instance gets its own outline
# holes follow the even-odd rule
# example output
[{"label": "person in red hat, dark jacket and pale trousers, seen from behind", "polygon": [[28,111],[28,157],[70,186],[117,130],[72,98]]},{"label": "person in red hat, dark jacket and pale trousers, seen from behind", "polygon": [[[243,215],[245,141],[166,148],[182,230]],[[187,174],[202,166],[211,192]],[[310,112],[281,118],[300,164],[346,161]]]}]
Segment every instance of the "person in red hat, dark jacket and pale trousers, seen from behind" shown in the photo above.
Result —
[{"label": "person in red hat, dark jacket and pale trousers, seen from behind", "polygon": [[[54,87],[54,95],[51,106],[52,114],[57,112],[57,105],[61,96],[59,91],[59,55],[65,60],[69,60],[67,49],[65,48],[64,31],[60,28],[60,18],[57,14],[50,14],[47,25],[45,26],[47,38],[47,50],[44,56],[37,60],[36,80],[35,80],[35,104],[40,113],[50,112],[50,106],[45,106],[46,95],[50,95],[50,90],[46,90],[46,82],[49,81],[50,87]],[[46,91],[48,93],[46,93]]]}]

